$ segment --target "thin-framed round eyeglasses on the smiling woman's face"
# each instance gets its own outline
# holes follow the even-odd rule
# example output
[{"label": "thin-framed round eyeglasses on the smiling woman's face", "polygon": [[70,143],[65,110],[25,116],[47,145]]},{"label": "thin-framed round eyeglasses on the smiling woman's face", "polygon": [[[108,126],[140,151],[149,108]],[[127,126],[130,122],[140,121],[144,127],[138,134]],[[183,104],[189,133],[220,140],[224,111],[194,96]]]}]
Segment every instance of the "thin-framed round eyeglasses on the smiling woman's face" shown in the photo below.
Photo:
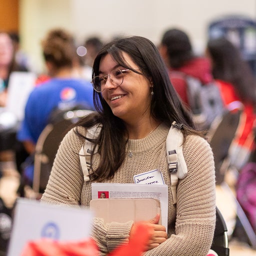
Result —
[{"label": "thin-framed round eyeglasses on the smiling woman's face", "polygon": [[[137,68],[134,68],[134,69],[137,69]],[[108,75],[94,76],[91,80],[93,89],[97,92],[103,91],[105,88],[105,84],[106,84],[108,76],[113,85],[115,85],[115,86],[121,85],[123,82],[123,74],[127,71],[130,71],[130,69],[122,69],[121,70],[121,69],[117,68],[117,69],[112,70]]]}]

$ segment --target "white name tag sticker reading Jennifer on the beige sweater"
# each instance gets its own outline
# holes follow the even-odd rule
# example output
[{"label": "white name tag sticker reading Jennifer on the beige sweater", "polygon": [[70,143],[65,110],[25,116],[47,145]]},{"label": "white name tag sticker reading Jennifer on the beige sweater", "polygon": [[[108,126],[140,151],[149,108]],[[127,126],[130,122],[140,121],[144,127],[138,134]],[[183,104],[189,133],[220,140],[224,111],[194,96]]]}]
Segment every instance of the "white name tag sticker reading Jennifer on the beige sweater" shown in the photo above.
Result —
[{"label": "white name tag sticker reading Jennifer on the beige sweater", "polygon": [[150,170],[133,176],[136,184],[157,184],[163,185],[164,179],[159,169]]}]

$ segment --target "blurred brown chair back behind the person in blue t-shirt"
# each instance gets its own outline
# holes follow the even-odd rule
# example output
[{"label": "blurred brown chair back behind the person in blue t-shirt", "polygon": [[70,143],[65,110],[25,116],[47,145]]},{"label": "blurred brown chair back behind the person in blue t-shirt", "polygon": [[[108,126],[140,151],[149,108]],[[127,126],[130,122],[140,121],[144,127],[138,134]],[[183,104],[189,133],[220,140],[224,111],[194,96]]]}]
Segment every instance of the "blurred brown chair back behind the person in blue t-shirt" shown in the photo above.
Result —
[{"label": "blurred brown chair back behind the person in blue t-shirt", "polygon": [[35,193],[40,194],[44,191],[58,146],[69,126],[90,112],[92,110],[69,110],[58,115],[55,122],[50,122],[45,126],[35,146],[32,184]]}]

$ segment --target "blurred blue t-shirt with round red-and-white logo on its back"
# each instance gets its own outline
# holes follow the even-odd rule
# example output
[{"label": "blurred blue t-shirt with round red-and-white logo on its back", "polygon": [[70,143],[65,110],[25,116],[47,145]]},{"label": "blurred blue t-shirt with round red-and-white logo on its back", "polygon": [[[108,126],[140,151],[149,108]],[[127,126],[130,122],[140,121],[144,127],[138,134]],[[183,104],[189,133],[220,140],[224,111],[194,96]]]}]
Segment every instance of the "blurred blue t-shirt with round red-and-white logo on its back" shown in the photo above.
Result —
[{"label": "blurred blue t-shirt with round red-and-white logo on its back", "polygon": [[77,78],[52,78],[35,87],[26,102],[24,119],[17,132],[17,139],[36,143],[53,109],[78,104],[84,105],[84,109],[94,110],[93,88],[88,81]]}]

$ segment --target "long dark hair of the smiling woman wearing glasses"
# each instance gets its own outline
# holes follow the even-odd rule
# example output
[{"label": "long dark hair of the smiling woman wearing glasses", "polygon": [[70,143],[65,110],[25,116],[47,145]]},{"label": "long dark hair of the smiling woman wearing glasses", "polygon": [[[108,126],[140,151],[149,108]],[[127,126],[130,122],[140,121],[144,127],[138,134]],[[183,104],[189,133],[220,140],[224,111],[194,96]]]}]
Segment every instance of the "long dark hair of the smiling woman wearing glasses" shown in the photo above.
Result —
[{"label": "long dark hair of the smiling woman wearing glasses", "polygon": [[[131,36],[105,44],[94,60],[92,76],[98,75],[100,60],[106,54],[110,54],[124,68],[139,73],[128,65],[122,52],[129,54],[133,62],[139,67],[141,74],[152,81],[154,88],[150,105],[152,117],[168,126],[171,125],[173,120],[183,123],[182,132],[184,137],[188,133],[200,134],[194,130],[190,113],[177,96],[170,83],[166,66],[157,48],[150,40],[140,36]],[[97,112],[81,119],[77,125],[87,128],[102,123],[100,135],[95,140],[95,144],[98,144],[101,160],[97,169],[90,174],[92,180],[100,181],[113,176],[121,165],[125,157],[127,130],[123,121],[113,115],[101,93],[94,91],[93,100]]]}]

